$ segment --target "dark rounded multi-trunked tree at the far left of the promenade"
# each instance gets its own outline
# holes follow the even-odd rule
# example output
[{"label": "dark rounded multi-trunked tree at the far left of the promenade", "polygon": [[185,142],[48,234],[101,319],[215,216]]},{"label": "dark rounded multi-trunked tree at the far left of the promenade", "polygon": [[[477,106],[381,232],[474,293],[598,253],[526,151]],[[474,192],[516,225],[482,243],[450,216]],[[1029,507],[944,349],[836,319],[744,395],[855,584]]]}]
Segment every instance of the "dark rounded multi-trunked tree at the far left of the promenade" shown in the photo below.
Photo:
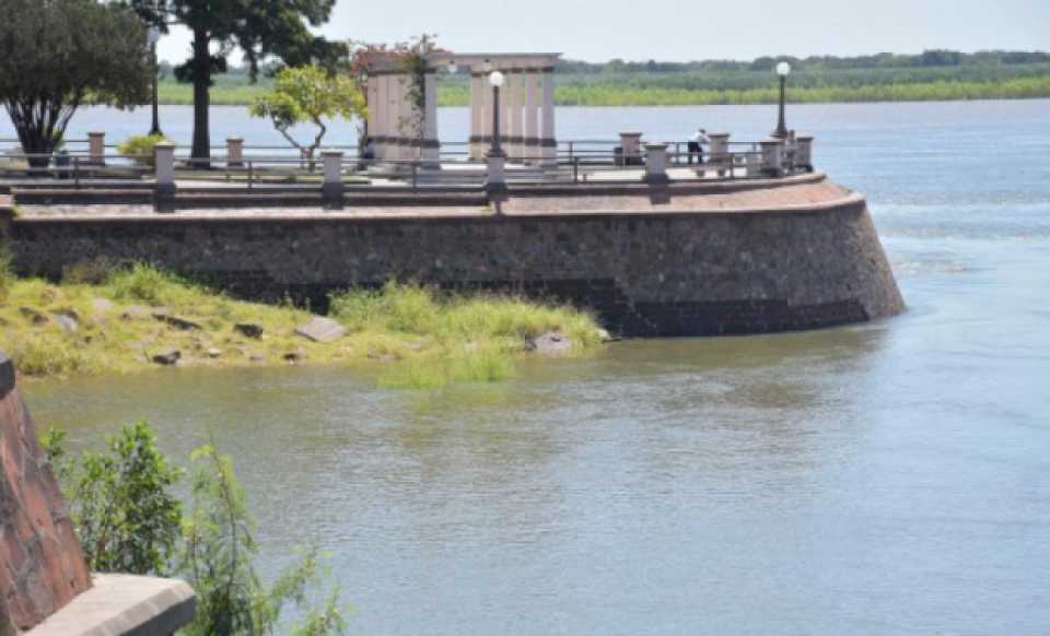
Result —
[{"label": "dark rounded multi-trunked tree at the far left of the promenade", "polygon": [[[0,2],[0,102],[26,154],[49,155],[82,105],[149,99],[145,25],[97,0]],[[30,165],[45,167],[47,157]]]}]

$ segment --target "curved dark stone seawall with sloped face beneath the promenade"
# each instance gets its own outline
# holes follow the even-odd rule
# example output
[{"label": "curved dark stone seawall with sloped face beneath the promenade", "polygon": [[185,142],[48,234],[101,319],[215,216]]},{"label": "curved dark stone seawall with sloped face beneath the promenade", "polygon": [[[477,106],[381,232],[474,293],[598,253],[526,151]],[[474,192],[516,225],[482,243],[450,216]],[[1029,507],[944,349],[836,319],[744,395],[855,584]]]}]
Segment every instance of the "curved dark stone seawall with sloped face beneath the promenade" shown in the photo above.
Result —
[{"label": "curved dark stone seawall with sloped face beneath the promenade", "polygon": [[571,211],[512,200],[503,216],[39,216],[15,220],[10,233],[23,273],[55,278],[97,258],[150,261],[241,296],[290,294],[315,307],[335,288],[415,280],[572,302],[627,335],[812,329],[903,309],[863,197],[820,178],[782,195],[695,199],[685,209],[644,198],[649,209],[631,209],[621,198],[617,209]]}]

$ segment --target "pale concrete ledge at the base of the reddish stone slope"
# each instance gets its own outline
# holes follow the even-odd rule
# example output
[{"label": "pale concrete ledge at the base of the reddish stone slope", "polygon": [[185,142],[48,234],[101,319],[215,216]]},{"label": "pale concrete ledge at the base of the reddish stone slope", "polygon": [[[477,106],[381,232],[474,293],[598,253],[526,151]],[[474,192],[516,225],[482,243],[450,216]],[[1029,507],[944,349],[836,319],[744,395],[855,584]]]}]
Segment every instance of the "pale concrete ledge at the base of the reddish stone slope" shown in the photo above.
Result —
[{"label": "pale concrete ledge at the base of the reddish stone slope", "polygon": [[124,574],[93,577],[94,586],[31,636],[170,636],[194,620],[196,596],[175,579]]}]

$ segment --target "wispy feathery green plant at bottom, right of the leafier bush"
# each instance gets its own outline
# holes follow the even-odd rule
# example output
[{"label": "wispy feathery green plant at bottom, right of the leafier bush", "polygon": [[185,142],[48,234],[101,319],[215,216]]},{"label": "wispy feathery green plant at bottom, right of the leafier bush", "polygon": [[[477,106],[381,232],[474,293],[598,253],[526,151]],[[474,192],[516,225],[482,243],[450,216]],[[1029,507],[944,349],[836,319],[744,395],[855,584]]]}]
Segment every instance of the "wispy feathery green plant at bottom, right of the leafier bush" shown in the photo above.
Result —
[{"label": "wispy feathery green plant at bottom, right of the leafier bush", "polygon": [[[245,504],[244,491],[233,472],[233,461],[214,445],[194,451],[198,469],[192,478],[192,508],[183,521],[182,569],[197,591],[194,623],[188,636],[273,634],[281,611],[302,606],[306,591],[320,577],[319,553],[311,549],[285,569],[270,588],[259,580],[252,560],[258,554],[253,538],[255,521]],[[339,610],[339,592],[310,615],[307,634],[343,634],[347,625]]]}]

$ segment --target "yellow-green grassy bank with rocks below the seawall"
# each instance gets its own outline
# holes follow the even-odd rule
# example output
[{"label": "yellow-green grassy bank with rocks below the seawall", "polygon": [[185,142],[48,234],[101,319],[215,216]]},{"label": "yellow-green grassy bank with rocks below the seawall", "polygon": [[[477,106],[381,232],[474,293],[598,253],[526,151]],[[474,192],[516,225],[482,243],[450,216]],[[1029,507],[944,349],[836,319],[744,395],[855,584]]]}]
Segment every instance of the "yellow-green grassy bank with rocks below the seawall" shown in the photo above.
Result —
[{"label": "yellow-green grassy bank with rocks below the seawall", "polygon": [[[161,308],[199,329],[155,319]],[[77,330],[63,331],[59,314],[75,316]],[[412,284],[336,294],[330,315],[349,333],[317,343],[294,333],[312,318],[304,309],[236,301],[148,264],[112,271],[103,262],[83,263],[59,284],[19,279],[0,267],[0,349],[31,377],[133,373],[154,368],[154,355],[176,349],[183,366],[287,365],[294,357],[296,364],[364,366],[387,387],[430,389],[512,377],[529,339],[547,331],[568,335],[579,353],[602,343],[595,320],[570,307],[443,295]],[[242,334],[235,328],[242,322],[260,326],[262,337]]]}]

